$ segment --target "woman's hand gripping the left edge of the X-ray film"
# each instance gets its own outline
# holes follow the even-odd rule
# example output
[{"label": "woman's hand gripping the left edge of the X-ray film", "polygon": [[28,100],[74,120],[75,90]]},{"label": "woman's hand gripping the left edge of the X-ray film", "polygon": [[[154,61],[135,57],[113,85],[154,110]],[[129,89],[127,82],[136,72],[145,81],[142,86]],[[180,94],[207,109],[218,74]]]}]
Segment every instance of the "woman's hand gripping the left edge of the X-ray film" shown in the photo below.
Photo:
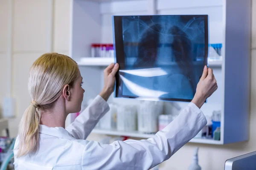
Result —
[{"label": "woman's hand gripping the left edge of the X-ray film", "polygon": [[106,101],[114,91],[114,85],[116,81],[115,75],[116,75],[116,72],[118,71],[118,68],[119,68],[118,63],[116,64],[111,63],[104,70],[104,88],[99,95],[102,96],[102,98],[105,99]]}]

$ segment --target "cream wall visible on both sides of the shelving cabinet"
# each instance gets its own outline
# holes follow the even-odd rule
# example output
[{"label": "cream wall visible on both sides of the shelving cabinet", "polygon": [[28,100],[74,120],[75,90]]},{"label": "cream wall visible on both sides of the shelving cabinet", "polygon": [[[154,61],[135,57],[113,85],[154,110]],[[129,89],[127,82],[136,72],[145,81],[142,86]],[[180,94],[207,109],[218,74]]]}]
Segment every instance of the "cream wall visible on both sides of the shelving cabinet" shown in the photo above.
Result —
[{"label": "cream wall visible on both sides of the shelving cabinet", "polygon": [[[9,120],[12,136],[17,135],[18,123],[23,111],[30,104],[27,91],[29,68],[41,54],[49,51],[68,54],[70,2],[53,0],[53,42],[50,43],[51,9],[49,0],[14,0],[13,6],[13,48],[12,48],[12,94],[16,99],[16,117]],[[224,169],[224,162],[234,156],[256,150],[256,1],[253,0],[252,13],[252,58],[251,58],[251,103],[250,140],[248,142],[215,146],[209,144],[186,144],[171,159],[160,165],[161,170],[186,170],[192,160],[194,148],[199,146],[199,164],[203,170]],[[9,0],[0,0],[0,107],[7,95],[7,32]],[[103,37],[103,40],[108,37]],[[102,136],[92,134],[89,139],[99,140]]]}]

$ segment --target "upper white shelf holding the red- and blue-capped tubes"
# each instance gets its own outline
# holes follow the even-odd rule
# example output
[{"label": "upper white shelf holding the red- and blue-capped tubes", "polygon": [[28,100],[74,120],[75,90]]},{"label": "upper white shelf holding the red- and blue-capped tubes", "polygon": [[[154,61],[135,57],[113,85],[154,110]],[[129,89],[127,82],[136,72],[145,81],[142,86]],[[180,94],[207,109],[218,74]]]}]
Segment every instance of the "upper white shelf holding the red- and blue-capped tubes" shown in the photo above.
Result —
[{"label": "upper white shelf holding the red- and blue-capped tubes", "polygon": [[[84,57],[77,62],[79,66],[108,66],[115,62],[114,58]],[[221,67],[222,60],[209,60],[209,67]]]}]

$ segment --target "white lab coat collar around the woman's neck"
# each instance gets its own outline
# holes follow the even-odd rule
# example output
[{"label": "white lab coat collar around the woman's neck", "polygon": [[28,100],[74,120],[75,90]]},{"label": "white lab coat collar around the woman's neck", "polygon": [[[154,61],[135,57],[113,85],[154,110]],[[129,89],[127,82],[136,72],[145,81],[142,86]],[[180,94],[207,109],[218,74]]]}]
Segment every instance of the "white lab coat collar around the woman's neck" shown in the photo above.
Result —
[{"label": "white lab coat collar around the woman's neck", "polygon": [[71,134],[63,127],[48,127],[46,125],[39,125],[39,133],[43,133],[49,136],[55,136],[64,139],[75,139]]}]

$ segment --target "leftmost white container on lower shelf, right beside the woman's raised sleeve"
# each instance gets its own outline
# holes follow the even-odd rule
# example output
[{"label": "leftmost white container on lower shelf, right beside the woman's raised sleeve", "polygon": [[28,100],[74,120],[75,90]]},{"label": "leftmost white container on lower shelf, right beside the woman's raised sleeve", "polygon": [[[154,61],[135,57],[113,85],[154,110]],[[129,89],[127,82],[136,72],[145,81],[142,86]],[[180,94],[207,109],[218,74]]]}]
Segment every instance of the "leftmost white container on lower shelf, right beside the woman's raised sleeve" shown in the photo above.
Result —
[{"label": "leftmost white container on lower shelf, right beside the woman's raised sleeve", "polygon": [[109,108],[110,110],[100,119],[101,129],[116,129],[117,106],[111,103]]}]

